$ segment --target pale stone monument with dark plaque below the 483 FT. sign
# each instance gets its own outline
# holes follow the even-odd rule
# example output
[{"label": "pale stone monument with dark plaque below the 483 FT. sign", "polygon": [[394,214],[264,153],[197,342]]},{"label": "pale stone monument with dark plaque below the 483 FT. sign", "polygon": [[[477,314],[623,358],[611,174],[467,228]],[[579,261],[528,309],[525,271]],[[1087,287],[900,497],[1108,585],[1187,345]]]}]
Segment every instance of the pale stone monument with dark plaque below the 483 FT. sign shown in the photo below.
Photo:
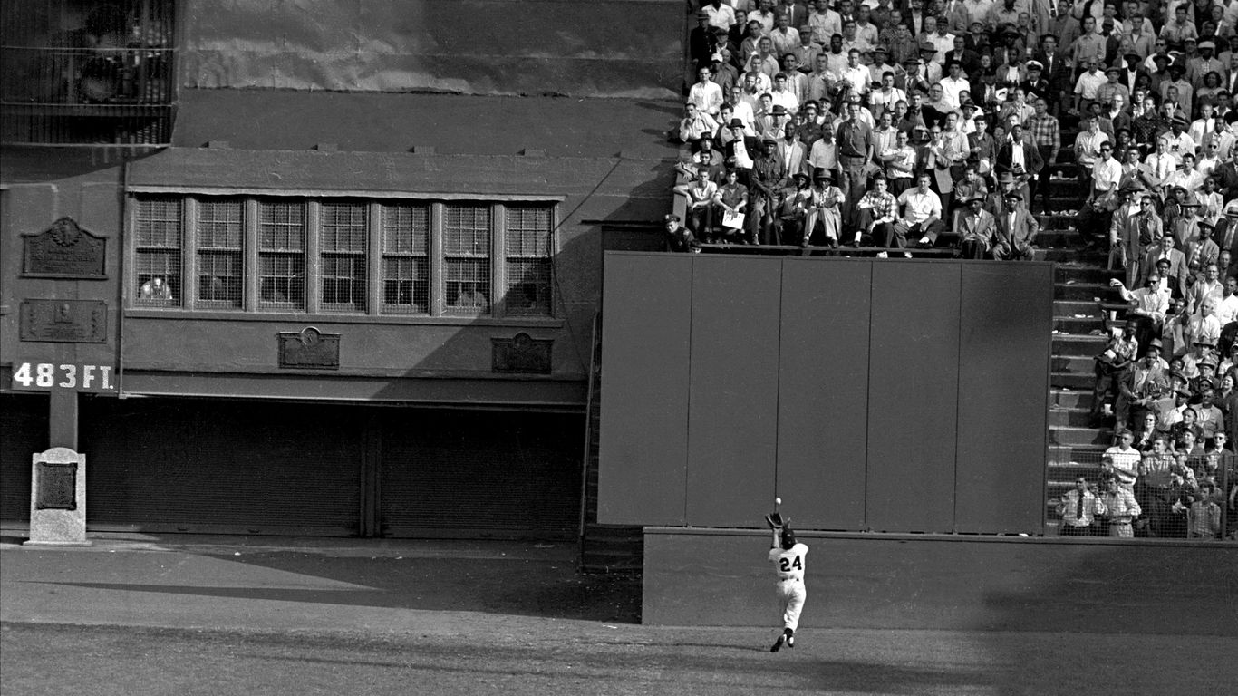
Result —
[{"label": "pale stone monument with dark plaque below the 483 FT. sign", "polygon": [[89,546],[85,539],[85,455],[52,447],[31,457],[31,546]]}]

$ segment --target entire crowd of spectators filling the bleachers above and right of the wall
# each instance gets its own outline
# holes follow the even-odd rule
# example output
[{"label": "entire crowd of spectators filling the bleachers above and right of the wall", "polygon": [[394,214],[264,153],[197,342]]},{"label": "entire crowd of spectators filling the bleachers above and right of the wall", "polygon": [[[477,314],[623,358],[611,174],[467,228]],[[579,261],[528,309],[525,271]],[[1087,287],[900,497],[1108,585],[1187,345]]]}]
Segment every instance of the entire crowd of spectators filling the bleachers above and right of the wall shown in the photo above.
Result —
[{"label": "entire crowd of spectators filling the bleachers above and right of the wall", "polygon": [[1234,514],[1238,0],[690,6],[672,250],[1031,259],[1034,213],[1071,215],[1130,321],[1096,363],[1109,478],[1063,529],[1207,536],[1210,504]]}]

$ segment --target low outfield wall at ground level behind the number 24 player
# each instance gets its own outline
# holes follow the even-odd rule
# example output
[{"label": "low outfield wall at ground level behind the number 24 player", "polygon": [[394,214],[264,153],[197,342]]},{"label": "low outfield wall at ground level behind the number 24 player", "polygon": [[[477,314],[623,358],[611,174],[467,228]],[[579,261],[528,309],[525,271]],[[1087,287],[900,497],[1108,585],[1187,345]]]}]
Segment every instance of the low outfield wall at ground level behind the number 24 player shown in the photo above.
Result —
[{"label": "low outfield wall at ground level behind the number 24 player", "polygon": [[[806,628],[1238,635],[1233,544],[800,539]],[[769,546],[768,533],[646,529],[643,622],[779,625]]]}]

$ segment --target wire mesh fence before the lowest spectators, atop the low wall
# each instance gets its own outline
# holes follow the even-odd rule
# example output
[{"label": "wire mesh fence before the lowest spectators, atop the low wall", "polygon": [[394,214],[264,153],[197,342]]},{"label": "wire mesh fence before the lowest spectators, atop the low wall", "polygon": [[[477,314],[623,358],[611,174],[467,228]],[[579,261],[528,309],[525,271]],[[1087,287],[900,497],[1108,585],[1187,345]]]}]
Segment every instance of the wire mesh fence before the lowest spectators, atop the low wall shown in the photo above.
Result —
[{"label": "wire mesh fence before the lowest spectators, atop the low wall", "polygon": [[1236,472],[1228,451],[1076,452],[1050,464],[1047,534],[1236,541]]}]

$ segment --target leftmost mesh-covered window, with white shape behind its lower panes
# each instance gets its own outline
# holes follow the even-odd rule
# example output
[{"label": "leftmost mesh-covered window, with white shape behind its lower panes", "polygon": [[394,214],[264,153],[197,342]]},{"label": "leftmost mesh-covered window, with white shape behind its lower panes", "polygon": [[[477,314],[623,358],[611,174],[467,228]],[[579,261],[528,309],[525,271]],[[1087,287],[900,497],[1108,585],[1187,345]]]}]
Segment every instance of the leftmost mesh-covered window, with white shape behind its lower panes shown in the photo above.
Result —
[{"label": "leftmost mesh-covered window, with white shape behind its lower panes", "polygon": [[144,307],[181,306],[182,203],[170,196],[142,197],[135,201],[134,280],[135,305]]}]

